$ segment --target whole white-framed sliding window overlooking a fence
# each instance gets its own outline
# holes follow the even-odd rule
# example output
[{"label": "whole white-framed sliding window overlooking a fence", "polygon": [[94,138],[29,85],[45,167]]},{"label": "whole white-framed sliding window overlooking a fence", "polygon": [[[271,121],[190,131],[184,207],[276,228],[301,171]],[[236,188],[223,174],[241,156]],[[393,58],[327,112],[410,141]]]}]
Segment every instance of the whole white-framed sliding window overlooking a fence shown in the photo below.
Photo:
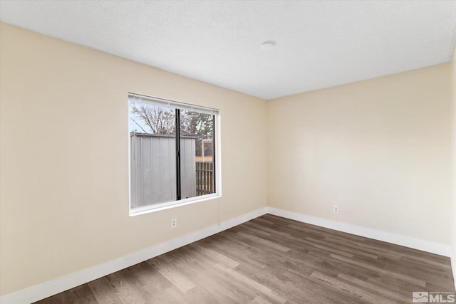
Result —
[{"label": "whole white-framed sliding window overlooking a fence", "polygon": [[129,94],[130,214],[217,196],[218,111]]}]

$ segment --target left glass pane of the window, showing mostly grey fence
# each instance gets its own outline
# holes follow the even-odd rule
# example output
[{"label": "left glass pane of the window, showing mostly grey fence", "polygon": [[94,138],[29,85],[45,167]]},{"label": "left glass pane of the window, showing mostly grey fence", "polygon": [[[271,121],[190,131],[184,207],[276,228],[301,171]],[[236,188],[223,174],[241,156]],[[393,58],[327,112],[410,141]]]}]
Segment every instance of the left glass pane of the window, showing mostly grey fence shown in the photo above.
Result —
[{"label": "left glass pane of the window, showing mostly grey fence", "polygon": [[175,109],[130,100],[131,208],[176,200]]}]

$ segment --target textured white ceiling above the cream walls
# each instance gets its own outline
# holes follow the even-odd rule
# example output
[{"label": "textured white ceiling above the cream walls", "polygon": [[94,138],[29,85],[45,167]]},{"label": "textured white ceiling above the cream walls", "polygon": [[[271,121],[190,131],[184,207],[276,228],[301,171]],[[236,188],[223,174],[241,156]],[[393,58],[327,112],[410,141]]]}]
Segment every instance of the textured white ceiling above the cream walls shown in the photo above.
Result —
[{"label": "textured white ceiling above the cream walls", "polygon": [[0,1],[0,20],[271,99],[449,62],[456,1]]}]

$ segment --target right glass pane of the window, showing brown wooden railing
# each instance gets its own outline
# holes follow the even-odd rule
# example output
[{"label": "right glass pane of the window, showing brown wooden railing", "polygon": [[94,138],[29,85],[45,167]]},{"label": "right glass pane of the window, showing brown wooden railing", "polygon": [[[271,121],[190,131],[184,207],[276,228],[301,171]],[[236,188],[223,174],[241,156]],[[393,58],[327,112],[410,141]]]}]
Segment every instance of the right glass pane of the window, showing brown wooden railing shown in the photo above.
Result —
[{"label": "right glass pane of the window, showing brown wooden railing", "polygon": [[215,193],[214,115],[180,111],[182,199]]}]

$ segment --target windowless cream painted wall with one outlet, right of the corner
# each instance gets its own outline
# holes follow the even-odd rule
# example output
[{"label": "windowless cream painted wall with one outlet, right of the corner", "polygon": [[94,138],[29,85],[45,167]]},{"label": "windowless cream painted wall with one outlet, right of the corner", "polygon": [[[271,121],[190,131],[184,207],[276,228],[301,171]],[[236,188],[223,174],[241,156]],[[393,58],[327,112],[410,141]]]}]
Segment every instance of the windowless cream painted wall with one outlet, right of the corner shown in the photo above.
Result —
[{"label": "windowless cream painted wall with one outlet, right of the corner", "polygon": [[450,245],[449,78],[444,64],[270,100],[269,206]]}]

